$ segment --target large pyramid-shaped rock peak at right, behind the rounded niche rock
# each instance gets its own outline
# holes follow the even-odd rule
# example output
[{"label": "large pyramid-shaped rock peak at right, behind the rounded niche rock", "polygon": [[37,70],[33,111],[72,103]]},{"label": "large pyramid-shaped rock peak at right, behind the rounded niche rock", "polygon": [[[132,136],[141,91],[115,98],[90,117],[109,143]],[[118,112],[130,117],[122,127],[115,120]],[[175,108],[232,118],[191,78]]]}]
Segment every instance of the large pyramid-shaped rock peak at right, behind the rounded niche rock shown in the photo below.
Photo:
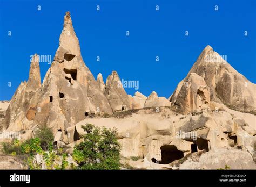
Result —
[{"label": "large pyramid-shaped rock peak at right, behind the rounded niche rock", "polygon": [[[230,66],[212,47],[206,46],[194,63],[185,80],[191,73],[204,78],[210,89],[210,100],[224,103],[238,111],[256,110],[256,84],[248,81]],[[176,97],[181,89],[181,81],[170,101],[176,104]],[[178,94],[177,94],[178,93]]]}]

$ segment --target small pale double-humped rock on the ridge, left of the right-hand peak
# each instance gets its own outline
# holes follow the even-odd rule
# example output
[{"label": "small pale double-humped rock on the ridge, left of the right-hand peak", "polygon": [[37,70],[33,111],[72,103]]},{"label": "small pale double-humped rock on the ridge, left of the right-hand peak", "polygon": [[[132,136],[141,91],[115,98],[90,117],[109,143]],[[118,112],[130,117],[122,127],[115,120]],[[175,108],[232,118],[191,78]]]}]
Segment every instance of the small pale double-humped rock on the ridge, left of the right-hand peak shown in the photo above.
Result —
[{"label": "small pale double-humped rock on the ridge, left of the right-hand peak", "polygon": [[171,106],[171,102],[165,97],[158,97],[157,93],[153,91],[145,102],[145,107],[160,107],[160,106]]}]

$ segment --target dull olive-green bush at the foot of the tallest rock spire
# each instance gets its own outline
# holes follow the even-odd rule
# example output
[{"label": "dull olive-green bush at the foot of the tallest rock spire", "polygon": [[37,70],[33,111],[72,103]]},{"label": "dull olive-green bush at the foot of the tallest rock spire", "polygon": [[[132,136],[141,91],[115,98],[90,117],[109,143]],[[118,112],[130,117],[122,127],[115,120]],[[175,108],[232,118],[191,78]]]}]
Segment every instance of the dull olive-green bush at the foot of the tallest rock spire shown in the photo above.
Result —
[{"label": "dull olive-green bush at the foot of the tallest rock spire", "polygon": [[39,130],[36,132],[35,136],[40,139],[43,150],[48,150],[49,145],[52,144],[54,139],[51,128],[48,128],[46,125],[39,127]]}]

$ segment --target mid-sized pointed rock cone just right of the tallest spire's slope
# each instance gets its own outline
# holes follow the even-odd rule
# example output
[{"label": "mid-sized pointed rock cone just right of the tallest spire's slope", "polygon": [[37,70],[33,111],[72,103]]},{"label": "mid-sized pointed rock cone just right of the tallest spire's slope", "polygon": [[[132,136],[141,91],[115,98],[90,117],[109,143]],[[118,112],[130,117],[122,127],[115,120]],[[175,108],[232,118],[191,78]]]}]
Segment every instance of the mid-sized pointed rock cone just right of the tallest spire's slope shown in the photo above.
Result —
[{"label": "mid-sized pointed rock cone just right of the tallest spire's slope", "polygon": [[117,71],[107,77],[104,95],[109,100],[113,111],[130,110],[130,102]]}]

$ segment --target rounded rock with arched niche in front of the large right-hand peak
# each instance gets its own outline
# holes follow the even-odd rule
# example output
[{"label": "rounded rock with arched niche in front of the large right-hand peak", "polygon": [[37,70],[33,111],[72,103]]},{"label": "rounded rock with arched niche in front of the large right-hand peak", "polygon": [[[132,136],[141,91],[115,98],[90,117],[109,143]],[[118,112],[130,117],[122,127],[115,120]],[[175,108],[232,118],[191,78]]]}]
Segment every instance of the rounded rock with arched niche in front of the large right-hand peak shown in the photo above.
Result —
[{"label": "rounded rock with arched niche in front of the large right-hand peak", "polygon": [[197,109],[206,109],[209,102],[210,89],[206,85],[204,78],[191,73],[185,79],[175,100],[178,110],[181,113],[189,113]]}]

